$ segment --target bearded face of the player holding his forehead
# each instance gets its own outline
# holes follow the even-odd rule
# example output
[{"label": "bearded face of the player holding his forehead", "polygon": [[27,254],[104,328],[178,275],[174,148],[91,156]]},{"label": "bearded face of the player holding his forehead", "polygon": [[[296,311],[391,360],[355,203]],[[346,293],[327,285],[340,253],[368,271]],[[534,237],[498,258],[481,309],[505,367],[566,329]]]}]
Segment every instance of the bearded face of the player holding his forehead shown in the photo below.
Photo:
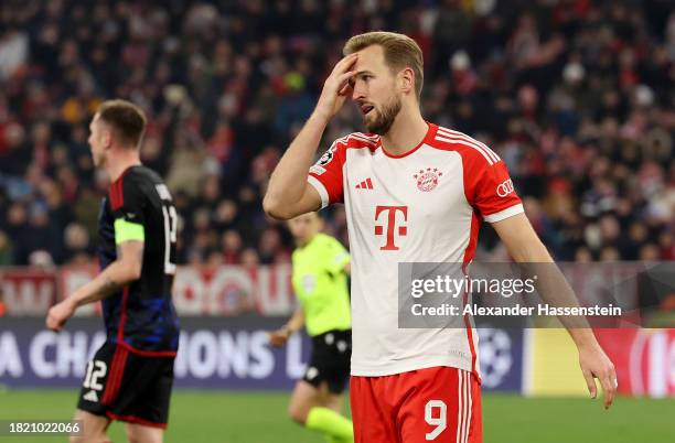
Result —
[{"label": "bearded face of the player holding his forehead", "polygon": [[401,108],[401,97],[396,89],[396,75],[385,63],[379,45],[358,52],[354,66],[356,75],[352,84],[352,98],[363,114],[366,130],[384,136],[389,131]]}]

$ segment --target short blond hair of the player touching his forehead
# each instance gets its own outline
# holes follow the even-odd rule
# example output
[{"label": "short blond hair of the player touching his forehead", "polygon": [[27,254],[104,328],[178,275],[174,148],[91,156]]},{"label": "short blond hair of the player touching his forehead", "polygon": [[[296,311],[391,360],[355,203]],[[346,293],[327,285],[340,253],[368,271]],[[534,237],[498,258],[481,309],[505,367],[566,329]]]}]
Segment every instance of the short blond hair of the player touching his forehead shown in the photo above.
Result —
[{"label": "short blond hair of the player touching his forehead", "polygon": [[409,67],[415,73],[415,93],[417,100],[421,96],[421,87],[425,83],[425,63],[421,50],[415,40],[405,34],[386,31],[373,31],[351,37],[345,44],[342,53],[353,54],[372,45],[379,45],[384,51],[385,63],[392,72]]}]

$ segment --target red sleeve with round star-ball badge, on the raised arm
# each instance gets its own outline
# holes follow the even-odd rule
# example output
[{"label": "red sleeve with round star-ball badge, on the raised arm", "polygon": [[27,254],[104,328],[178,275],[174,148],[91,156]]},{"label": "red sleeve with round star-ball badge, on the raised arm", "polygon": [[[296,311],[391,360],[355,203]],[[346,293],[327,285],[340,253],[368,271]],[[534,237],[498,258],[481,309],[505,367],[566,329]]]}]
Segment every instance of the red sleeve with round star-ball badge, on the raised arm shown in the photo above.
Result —
[{"label": "red sleeve with round star-ball badge, on the raised arm", "polygon": [[342,166],[344,164],[344,149],[339,140],[309,170],[307,181],[321,196],[321,208],[334,203],[342,203],[343,181]]}]

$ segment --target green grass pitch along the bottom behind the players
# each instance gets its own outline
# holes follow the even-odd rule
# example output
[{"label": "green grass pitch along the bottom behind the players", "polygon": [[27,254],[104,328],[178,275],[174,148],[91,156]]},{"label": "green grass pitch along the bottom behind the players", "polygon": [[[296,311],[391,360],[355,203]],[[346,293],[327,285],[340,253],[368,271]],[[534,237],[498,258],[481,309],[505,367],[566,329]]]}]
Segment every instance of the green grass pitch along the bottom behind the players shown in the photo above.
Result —
[{"label": "green grass pitch along the bottom behind the players", "polygon": [[[68,420],[76,390],[0,392],[0,420]],[[323,443],[286,417],[287,392],[174,391],[167,443]],[[666,443],[675,441],[675,399],[600,400],[483,396],[485,443]],[[126,442],[114,423],[114,443]],[[1,443],[66,442],[61,435],[0,436]]]}]

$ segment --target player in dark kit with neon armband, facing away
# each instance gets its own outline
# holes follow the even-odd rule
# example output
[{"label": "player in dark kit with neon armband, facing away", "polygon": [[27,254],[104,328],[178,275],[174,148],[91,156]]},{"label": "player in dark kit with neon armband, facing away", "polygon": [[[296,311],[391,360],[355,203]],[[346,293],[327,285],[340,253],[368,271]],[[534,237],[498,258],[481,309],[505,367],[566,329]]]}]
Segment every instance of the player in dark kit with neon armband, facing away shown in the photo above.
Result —
[{"label": "player in dark kit with neon armband, facing away", "polygon": [[160,443],[169,417],[179,325],[171,301],[176,212],[171,194],[139,158],[146,117],[124,100],[100,105],[89,129],[94,164],[111,184],[98,218],[100,273],[54,305],[60,331],[78,306],[103,301],[105,344],[88,364],[73,442],[108,441],[111,420],[127,422],[129,442]]}]

